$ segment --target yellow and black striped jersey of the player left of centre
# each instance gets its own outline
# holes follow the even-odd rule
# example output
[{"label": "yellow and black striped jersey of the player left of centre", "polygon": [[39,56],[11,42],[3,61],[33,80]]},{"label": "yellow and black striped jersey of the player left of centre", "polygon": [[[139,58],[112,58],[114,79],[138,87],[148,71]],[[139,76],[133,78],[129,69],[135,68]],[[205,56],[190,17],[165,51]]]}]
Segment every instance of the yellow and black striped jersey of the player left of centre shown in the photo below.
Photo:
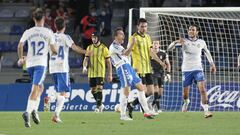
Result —
[{"label": "yellow and black striped jersey of the player left of centre", "polygon": [[99,46],[91,44],[87,47],[87,51],[91,52],[88,63],[88,78],[103,77],[106,73],[106,59],[110,58],[108,48],[101,43]]}]

